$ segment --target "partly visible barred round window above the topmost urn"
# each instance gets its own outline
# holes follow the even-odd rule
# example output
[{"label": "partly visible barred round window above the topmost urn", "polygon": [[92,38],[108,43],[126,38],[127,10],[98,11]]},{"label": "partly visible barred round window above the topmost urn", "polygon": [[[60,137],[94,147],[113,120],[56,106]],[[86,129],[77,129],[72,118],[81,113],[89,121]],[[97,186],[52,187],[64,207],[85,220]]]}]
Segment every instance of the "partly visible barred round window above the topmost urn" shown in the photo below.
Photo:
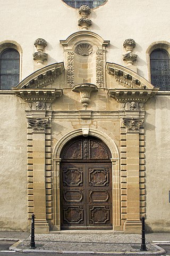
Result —
[{"label": "partly visible barred round window above the topmost urn", "polygon": [[90,9],[94,9],[100,6],[101,4],[105,3],[106,0],[98,0],[98,1],[64,0],[64,2],[75,9],[79,9],[82,5],[88,5]]}]

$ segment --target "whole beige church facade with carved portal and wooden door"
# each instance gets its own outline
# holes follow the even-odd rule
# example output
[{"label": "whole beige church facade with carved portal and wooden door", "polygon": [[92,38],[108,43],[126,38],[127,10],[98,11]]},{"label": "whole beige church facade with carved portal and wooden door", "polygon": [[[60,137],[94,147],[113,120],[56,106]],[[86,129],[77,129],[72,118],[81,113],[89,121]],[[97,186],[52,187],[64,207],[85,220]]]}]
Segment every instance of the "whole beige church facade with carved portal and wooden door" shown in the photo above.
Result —
[{"label": "whole beige church facade with carved portal and wooden door", "polygon": [[36,233],[141,233],[141,217],[169,231],[168,1],[164,21],[147,0],[16,2],[2,5],[0,229],[35,214]]}]

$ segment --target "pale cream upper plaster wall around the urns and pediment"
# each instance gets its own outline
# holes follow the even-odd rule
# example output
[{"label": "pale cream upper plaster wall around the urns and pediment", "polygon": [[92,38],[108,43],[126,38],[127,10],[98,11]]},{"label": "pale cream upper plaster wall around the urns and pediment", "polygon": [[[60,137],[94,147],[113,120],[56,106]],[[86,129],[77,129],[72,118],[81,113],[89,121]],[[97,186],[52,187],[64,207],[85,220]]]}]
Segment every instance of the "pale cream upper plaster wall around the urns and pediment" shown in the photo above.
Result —
[{"label": "pale cream upper plaster wall around the urns and pediment", "polygon": [[[35,69],[63,61],[60,40],[81,30],[77,25],[80,18],[78,10],[66,6],[62,0],[51,0],[50,3],[40,0],[0,0],[0,3],[3,21],[0,42],[12,40],[21,45],[22,79]],[[148,79],[146,51],[149,45],[156,41],[169,41],[169,5],[168,0],[162,0],[161,5],[155,0],[108,0],[105,5],[92,10],[92,26],[89,30],[111,41],[107,47],[106,59],[123,66],[126,65],[122,60],[123,41],[133,38],[137,43],[135,53],[138,54],[138,73]],[[48,61],[44,65],[37,65],[32,59],[32,53],[36,51],[33,42],[38,37],[46,39],[48,43],[45,48]]]}]

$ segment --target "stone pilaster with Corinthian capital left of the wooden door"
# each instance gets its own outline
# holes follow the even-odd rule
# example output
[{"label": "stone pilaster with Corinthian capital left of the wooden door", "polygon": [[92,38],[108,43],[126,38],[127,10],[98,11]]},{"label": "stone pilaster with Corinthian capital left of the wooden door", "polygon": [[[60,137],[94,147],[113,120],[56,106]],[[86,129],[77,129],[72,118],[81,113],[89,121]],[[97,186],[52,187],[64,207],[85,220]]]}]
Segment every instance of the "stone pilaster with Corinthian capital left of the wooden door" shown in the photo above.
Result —
[{"label": "stone pilaster with Corinthian capital left of the wooden door", "polygon": [[46,183],[45,183],[45,132],[48,118],[29,118],[32,127],[33,157],[33,212],[35,214],[35,232],[49,233],[46,220]]}]

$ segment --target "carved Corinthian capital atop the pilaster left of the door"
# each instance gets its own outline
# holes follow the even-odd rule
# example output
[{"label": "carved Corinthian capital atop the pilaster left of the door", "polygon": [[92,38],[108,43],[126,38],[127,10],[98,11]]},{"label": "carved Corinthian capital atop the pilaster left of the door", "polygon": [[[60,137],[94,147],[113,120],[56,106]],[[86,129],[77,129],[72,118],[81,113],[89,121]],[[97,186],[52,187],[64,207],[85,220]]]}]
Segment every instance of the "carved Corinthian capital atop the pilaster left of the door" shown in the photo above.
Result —
[{"label": "carved Corinthian capital atop the pilaster left of the door", "polygon": [[28,124],[32,127],[33,132],[45,132],[49,118],[28,118]]}]

